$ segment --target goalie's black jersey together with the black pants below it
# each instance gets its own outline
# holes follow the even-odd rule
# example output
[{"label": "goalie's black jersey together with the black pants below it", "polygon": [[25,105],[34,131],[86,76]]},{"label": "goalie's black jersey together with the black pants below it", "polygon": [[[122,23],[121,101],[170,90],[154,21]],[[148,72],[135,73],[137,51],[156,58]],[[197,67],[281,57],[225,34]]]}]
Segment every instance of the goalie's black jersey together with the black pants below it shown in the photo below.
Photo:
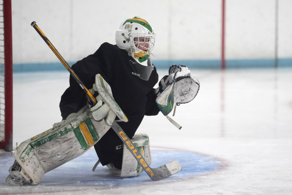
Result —
[{"label": "goalie's black jersey together with the black pants below it", "polygon": [[[132,138],[144,115],[157,115],[159,109],[155,103],[156,96],[153,87],[158,82],[156,68],[149,80],[136,76],[131,66],[127,51],[116,45],[103,43],[92,55],[72,65],[73,71],[88,89],[95,83],[95,75],[101,74],[109,83],[115,101],[120,105],[128,122],[118,122],[127,135]],[[70,87],[64,92],[60,101],[63,119],[86,105],[85,93],[70,75]],[[94,145],[102,165],[113,162],[116,168],[121,168],[122,141],[113,131],[109,131]]]}]

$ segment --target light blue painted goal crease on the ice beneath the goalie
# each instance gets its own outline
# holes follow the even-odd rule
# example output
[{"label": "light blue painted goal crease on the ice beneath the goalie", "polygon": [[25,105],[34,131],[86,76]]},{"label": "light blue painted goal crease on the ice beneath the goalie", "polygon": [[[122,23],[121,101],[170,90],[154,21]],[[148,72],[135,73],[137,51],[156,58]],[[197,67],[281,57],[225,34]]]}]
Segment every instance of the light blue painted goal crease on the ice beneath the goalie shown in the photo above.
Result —
[{"label": "light blue painted goal crease on the ice beneath the goalie", "polygon": [[[173,181],[185,179],[187,177],[197,176],[212,172],[221,167],[218,160],[188,151],[161,151],[152,150],[151,167],[156,168],[164,165],[172,160],[179,161],[182,171],[165,178],[161,181]],[[13,157],[9,153],[0,156],[0,185],[5,183],[5,177],[8,175],[8,169],[13,163]],[[92,167],[98,160],[94,150],[89,150],[82,156],[61,165],[60,167],[47,172],[39,185],[78,185],[78,186],[130,186],[138,184],[154,184],[148,175],[143,171],[141,175],[136,177],[122,178],[113,176],[108,173],[106,166],[98,165],[95,172]]]}]

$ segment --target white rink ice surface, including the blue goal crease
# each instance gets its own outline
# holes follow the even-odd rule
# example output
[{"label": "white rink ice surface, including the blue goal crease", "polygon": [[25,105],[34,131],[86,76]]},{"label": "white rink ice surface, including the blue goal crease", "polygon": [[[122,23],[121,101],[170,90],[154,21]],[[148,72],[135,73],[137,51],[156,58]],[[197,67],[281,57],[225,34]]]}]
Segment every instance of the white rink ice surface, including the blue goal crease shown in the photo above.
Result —
[{"label": "white rink ice surface, including the blue goal crease", "polygon": [[[137,130],[149,135],[151,167],[178,160],[181,172],[157,182],[145,173],[111,176],[101,165],[92,172],[97,159],[89,150],[36,186],[10,186],[3,179],[13,158],[0,151],[0,194],[292,194],[292,69],[191,71],[201,86],[176,109],[182,129],[159,114],[146,116]],[[160,78],[167,72],[159,70]],[[61,121],[68,77],[14,74],[14,147]]]}]

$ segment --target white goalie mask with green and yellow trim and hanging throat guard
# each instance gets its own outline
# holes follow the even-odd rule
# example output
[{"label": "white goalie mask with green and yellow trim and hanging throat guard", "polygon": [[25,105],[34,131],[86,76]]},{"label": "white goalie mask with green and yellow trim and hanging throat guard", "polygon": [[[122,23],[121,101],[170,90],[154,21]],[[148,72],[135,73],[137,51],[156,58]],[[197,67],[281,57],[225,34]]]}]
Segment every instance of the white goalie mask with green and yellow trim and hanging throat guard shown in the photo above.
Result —
[{"label": "white goalie mask with green and yellow trim and hanging throat guard", "polygon": [[150,54],[155,45],[155,33],[150,24],[137,16],[124,20],[116,30],[116,45],[135,60],[131,63],[135,73],[149,80],[154,66]]}]

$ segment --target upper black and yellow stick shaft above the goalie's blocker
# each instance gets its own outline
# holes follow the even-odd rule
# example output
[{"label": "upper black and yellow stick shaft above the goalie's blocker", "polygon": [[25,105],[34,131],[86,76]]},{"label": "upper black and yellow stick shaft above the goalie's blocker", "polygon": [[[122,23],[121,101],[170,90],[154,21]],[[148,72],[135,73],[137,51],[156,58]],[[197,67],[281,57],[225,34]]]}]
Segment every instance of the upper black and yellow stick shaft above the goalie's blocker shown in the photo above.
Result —
[{"label": "upper black and yellow stick shaft above the goalie's blocker", "polygon": [[46,44],[51,48],[51,50],[54,52],[54,54],[57,56],[57,58],[62,62],[62,64],[65,66],[65,68],[69,71],[71,76],[78,82],[82,90],[86,94],[86,98],[88,99],[89,103],[91,105],[96,105],[97,101],[96,98],[90,93],[90,91],[85,87],[85,85],[82,83],[82,81],[78,78],[78,76],[74,73],[74,71],[71,69],[71,67],[68,65],[68,63],[64,60],[64,58],[61,56],[61,54],[57,51],[57,49],[54,47],[54,45],[50,42],[50,40],[46,37],[45,34],[40,30],[40,28],[36,25],[36,22],[33,21],[30,24],[36,32],[43,38],[43,40],[46,42]]}]

